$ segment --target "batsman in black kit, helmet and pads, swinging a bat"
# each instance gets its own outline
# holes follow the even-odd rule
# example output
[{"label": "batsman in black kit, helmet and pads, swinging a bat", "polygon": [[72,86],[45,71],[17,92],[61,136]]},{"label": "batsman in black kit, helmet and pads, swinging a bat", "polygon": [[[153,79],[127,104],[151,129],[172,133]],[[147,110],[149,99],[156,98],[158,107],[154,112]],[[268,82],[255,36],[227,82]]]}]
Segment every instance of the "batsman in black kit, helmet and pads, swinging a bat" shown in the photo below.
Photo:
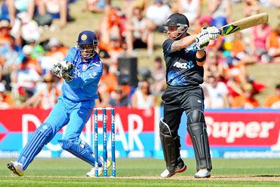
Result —
[{"label": "batsman in black kit, helmet and pads, swinging a bat", "polygon": [[210,39],[217,39],[216,27],[205,27],[198,34],[188,34],[188,18],[174,13],[167,19],[167,40],[162,44],[166,63],[167,89],[162,94],[164,116],[160,119],[160,140],[165,155],[163,178],[184,172],[187,166],[180,155],[179,124],[183,112],[187,115],[187,129],[193,142],[196,178],[211,176],[211,155],[204,119],[203,83],[206,60],[205,48]]}]

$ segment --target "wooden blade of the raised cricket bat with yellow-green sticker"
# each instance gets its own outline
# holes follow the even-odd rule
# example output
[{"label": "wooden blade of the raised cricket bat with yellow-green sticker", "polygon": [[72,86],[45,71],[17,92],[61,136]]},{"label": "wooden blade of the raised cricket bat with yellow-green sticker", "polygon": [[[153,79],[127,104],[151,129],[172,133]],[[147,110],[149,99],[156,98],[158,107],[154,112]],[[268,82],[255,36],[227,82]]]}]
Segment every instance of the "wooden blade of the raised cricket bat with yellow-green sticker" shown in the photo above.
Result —
[{"label": "wooden blade of the raised cricket bat with yellow-green sticker", "polygon": [[232,34],[234,32],[241,31],[243,29],[247,29],[247,28],[253,27],[255,25],[260,25],[265,22],[268,22],[267,13],[260,13],[257,15],[252,15],[247,18],[237,20],[236,22],[232,22],[228,25],[224,25],[220,29],[220,34],[221,34],[221,36],[227,36],[228,34]]}]

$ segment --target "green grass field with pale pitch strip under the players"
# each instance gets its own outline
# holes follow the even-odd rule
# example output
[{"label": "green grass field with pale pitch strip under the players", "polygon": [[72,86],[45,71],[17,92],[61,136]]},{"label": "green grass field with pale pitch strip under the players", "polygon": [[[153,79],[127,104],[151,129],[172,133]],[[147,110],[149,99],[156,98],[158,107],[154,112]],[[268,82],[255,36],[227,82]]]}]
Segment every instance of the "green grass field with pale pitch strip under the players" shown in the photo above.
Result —
[{"label": "green grass field with pale pitch strip under the players", "polygon": [[[209,179],[195,179],[195,160],[184,159],[188,169],[170,179],[160,179],[164,160],[117,159],[116,179],[85,177],[90,169],[78,159],[35,159],[25,176],[17,177],[0,160],[0,186],[279,186],[279,159],[213,159]],[[109,170],[111,174],[111,170]]]}]

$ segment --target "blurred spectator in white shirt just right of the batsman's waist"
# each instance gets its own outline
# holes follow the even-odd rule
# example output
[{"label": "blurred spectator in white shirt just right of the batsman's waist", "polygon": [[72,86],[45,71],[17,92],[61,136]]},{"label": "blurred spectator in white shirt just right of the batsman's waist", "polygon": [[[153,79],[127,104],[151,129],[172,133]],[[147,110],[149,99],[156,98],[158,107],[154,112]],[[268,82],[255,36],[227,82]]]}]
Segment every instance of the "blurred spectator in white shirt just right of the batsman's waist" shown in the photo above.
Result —
[{"label": "blurred spectator in white shirt just right of the batsman's waist", "polygon": [[205,109],[228,108],[228,88],[225,83],[218,81],[215,76],[209,76],[207,80],[209,82],[204,84]]}]

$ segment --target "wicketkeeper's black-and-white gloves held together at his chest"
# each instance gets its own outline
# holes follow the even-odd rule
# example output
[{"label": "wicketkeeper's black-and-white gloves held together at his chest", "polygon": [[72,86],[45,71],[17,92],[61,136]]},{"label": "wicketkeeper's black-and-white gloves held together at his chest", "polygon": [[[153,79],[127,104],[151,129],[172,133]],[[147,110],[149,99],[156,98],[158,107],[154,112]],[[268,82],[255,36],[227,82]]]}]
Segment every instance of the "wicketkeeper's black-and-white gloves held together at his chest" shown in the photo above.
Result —
[{"label": "wicketkeeper's black-and-white gloves held together at his chest", "polygon": [[52,72],[59,78],[64,78],[65,81],[72,81],[73,74],[72,70],[75,69],[75,65],[71,62],[62,61],[54,64],[52,67]]}]

